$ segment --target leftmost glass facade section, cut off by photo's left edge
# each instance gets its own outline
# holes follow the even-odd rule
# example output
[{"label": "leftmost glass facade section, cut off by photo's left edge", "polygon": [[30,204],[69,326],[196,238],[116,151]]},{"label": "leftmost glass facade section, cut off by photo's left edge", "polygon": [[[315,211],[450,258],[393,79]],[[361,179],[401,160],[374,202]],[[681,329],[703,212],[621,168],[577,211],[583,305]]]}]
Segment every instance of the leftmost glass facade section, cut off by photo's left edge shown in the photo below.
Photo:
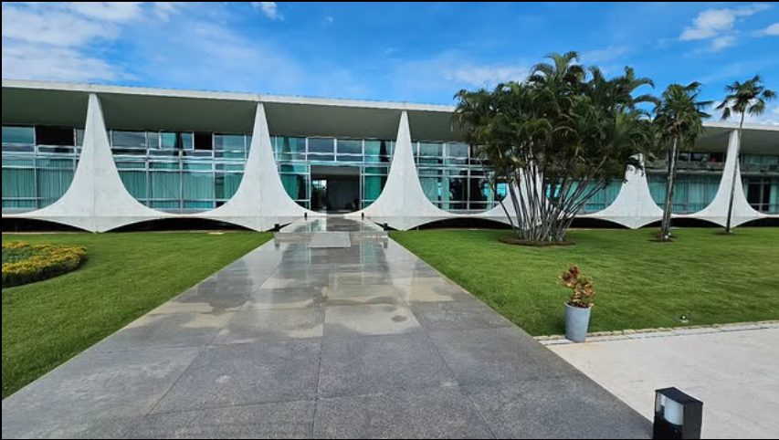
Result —
[{"label": "leftmost glass facade section, cut off by photo's left edge", "polygon": [[[36,133],[56,131],[61,141],[39,144]],[[83,131],[74,128],[3,126],[3,212],[44,208],[64,195],[79,164]]]}]

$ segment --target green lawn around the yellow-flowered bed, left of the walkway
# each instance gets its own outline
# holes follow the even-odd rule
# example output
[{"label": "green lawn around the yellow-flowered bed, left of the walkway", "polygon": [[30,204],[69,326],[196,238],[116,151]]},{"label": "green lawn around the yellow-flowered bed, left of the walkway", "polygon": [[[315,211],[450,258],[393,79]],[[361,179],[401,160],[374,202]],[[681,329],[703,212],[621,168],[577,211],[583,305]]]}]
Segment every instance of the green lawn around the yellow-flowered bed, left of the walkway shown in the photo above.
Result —
[{"label": "green lawn around the yellow-flowered bed, left of the walkway", "polygon": [[86,246],[76,272],[3,288],[3,399],[270,239],[270,234],[3,235]]}]

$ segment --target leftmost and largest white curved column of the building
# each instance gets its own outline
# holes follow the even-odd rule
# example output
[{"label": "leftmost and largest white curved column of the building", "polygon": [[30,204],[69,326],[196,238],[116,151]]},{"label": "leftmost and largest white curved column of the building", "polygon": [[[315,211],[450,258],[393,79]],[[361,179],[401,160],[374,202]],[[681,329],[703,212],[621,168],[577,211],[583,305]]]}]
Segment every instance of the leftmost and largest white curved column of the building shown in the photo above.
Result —
[{"label": "leftmost and largest white curved column of the building", "polygon": [[89,94],[79,166],[68,191],[46,208],[15,215],[89,232],[106,232],[123,225],[170,216],[147,208],[124,187],[113,161],[100,99],[94,93]]}]

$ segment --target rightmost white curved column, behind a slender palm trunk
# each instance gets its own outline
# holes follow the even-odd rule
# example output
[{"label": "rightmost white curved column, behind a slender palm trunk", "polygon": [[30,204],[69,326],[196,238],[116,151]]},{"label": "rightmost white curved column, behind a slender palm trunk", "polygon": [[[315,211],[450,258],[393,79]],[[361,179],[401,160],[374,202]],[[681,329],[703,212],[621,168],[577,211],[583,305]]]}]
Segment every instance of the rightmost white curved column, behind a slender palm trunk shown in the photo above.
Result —
[{"label": "rightmost white curved column, behind a slender palm trunk", "polygon": [[731,188],[733,182],[733,169],[736,169],[736,192],[733,198],[733,219],[732,225],[743,225],[747,222],[764,218],[767,215],[755,211],[746,199],[743,192],[741,165],[739,164],[736,152],[739,150],[739,133],[731,131],[728,141],[728,155],[725,159],[725,169],[720,181],[720,189],[711,204],[702,211],[690,215],[675,215],[675,218],[696,218],[707,220],[717,225],[727,225],[728,205],[730,204]]}]

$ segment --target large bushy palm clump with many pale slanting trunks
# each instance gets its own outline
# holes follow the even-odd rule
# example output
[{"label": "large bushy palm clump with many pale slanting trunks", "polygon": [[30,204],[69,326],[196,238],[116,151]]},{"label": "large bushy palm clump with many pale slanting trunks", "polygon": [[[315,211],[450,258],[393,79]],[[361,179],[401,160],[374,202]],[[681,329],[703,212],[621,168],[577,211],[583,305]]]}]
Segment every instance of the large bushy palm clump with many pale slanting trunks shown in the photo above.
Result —
[{"label": "large bushy palm clump with many pale slanting trunks", "polygon": [[584,204],[624,180],[628,166],[640,168],[639,154],[657,148],[640,109],[656,100],[634,97],[653,85],[650,79],[637,79],[632,68],[606,79],[599,68],[579,64],[575,52],[548,59],[523,82],[455,96],[456,127],[490,162],[494,181],[510,183],[520,217],[512,226],[517,236],[535,242],[563,241]]}]

